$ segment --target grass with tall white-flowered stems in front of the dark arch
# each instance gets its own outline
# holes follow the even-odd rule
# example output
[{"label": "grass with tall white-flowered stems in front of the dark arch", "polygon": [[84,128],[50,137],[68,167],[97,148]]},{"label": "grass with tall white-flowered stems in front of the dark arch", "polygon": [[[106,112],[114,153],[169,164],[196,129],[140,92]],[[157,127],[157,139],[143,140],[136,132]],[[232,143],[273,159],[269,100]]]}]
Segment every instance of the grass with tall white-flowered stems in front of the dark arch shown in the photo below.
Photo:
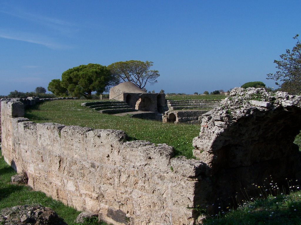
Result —
[{"label": "grass with tall white-flowered stems in front of the dark arch", "polygon": [[301,224],[301,190],[298,180],[287,180],[287,184],[280,187],[270,176],[262,186],[253,185],[258,197],[251,197],[245,192],[242,202],[234,198],[233,202],[238,204],[235,210],[220,203],[215,206],[219,212],[206,215],[203,224]]}]

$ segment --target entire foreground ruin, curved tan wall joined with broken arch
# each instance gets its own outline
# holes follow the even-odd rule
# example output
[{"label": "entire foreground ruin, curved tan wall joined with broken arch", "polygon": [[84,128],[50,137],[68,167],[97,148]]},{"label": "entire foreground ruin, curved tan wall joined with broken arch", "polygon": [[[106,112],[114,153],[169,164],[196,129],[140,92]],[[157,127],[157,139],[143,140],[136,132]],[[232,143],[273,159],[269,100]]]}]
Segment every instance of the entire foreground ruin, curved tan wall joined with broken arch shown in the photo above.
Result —
[{"label": "entire foreground ruin, curved tan wall joined with broken arch", "polygon": [[196,208],[225,209],[232,197],[243,198],[241,190],[256,193],[253,183],[301,178],[293,144],[300,101],[285,92],[234,88],[203,115],[192,141],[197,159],[185,159],[173,158],[165,144],[127,142],[123,131],[36,124],[23,118],[21,102],[5,100],[2,154],[34,190],[107,223],[193,224],[200,222]]}]

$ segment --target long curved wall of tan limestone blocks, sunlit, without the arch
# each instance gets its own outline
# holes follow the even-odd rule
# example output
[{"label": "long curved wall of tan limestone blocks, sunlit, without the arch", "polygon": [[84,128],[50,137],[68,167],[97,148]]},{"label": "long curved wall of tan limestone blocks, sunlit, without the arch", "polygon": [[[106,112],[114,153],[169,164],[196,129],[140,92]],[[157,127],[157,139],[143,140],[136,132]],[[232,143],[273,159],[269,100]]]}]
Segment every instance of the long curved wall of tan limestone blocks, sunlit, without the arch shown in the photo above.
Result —
[{"label": "long curved wall of tan limestone blocks, sunlit, without the arch", "polygon": [[[24,105],[2,101],[2,154],[28,184],[113,224],[188,224],[200,161],[173,149],[125,142],[116,130],[92,130],[23,118]],[[172,168],[172,169],[171,169]]]}]

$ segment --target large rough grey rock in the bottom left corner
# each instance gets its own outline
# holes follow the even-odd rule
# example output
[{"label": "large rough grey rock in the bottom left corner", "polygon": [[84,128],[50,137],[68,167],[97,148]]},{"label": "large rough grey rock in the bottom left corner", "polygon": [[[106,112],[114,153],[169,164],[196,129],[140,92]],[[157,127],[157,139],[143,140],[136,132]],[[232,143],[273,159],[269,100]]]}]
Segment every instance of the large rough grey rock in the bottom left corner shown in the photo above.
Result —
[{"label": "large rough grey rock in the bottom left corner", "polygon": [[40,205],[18,205],[0,211],[3,225],[67,225],[48,207]]}]

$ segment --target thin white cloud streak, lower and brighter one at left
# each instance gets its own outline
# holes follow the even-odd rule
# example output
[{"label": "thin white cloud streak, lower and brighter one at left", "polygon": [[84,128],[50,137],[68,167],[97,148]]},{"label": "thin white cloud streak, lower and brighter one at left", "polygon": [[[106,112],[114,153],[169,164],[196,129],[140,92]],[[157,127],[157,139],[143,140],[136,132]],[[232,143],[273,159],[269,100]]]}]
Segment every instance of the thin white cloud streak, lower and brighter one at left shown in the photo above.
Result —
[{"label": "thin white cloud streak, lower and brighter one at left", "polygon": [[6,38],[11,40],[26,41],[29,43],[44,45],[51,49],[70,49],[73,48],[69,45],[58,44],[51,38],[43,37],[37,34],[24,33],[24,32],[9,32],[0,30],[0,38]]}]

